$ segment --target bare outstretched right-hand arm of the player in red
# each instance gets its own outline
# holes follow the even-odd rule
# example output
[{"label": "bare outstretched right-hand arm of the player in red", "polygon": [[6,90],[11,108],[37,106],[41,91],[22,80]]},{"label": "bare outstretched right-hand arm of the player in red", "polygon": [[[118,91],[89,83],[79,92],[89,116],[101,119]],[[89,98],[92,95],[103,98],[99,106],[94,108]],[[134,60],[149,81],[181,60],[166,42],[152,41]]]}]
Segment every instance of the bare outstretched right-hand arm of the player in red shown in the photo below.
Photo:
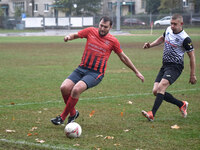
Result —
[{"label": "bare outstretched right-hand arm of the player in red", "polygon": [[118,54],[120,60],[127,66],[129,67],[135,74],[136,76],[144,82],[144,76],[137,70],[137,68],[133,65],[132,61],[126,56],[124,52],[121,52]]}]

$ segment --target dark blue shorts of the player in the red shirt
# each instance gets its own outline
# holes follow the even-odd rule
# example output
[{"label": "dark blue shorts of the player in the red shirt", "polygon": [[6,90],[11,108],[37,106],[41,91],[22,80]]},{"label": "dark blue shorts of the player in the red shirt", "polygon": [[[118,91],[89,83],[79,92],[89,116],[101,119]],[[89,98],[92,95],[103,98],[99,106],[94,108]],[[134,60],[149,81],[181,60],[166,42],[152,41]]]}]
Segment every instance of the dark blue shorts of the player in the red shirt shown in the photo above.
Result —
[{"label": "dark blue shorts of the player in the red shirt", "polygon": [[99,84],[103,77],[104,74],[87,68],[78,67],[68,76],[67,79],[72,80],[75,84],[78,81],[83,81],[86,83],[88,89]]}]

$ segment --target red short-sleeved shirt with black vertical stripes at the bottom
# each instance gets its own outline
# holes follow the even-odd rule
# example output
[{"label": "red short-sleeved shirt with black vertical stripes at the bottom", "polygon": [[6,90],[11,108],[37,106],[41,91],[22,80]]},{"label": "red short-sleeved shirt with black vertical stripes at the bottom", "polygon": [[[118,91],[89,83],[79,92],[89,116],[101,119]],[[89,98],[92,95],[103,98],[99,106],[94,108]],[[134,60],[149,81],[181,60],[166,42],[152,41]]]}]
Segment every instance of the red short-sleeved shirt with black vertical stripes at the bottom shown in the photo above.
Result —
[{"label": "red short-sleeved shirt with black vertical stripes at the bottom", "polygon": [[107,61],[112,51],[122,52],[119,41],[110,33],[100,36],[98,28],[89,27],[78,32],[80,38],[87,42],[82,56],[80,67],[105,73]]}]

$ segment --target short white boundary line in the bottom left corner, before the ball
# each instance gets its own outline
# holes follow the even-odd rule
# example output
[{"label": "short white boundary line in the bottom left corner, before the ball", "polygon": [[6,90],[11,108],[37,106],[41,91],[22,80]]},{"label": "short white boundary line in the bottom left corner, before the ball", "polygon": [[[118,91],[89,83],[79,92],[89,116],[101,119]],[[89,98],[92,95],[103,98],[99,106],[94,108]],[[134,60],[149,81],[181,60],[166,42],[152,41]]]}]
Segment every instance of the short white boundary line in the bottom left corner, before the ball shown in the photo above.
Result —
[{"label": "short white boundary line in the bottom left corner, before the ball", "polygon": [[31,142],[27,142],[27,141],[14,141],[14,140],[7,140],[7,139],[0,139],[0,141],[4,142],[4,143],[37,146],[37,147],[40,147],[40,148],[48,148],[48,149],[77,150],[75,148],[64,148],[64,147],[59,147],[59,146],[52,146],[52,145],[49,145],[49,144],[31,143]]}]

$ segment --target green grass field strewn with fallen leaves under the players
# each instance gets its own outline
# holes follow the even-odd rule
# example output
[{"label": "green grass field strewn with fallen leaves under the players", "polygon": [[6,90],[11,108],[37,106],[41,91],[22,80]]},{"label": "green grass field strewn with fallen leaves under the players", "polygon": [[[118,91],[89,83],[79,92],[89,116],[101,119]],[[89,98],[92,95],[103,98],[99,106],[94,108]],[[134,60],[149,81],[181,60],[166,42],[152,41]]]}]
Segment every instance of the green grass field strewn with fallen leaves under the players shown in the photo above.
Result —
[{"label": "green grass field strewn with fallen leaves under the players", "polygon": [[[112,53],[103,81],[84,92],[76,106],[80,112],[76,121],[83,130],[77,139],[68,139],[64,126],[54,126],[50,119],[64,109],[59,88],[80,63],[85,40],[64,43],[63,37],[0,37],[0,149],[199,150],[200,83],[188,84],[187,54],[181,77],[167,91],[189,102],[188,117],[182,118],[179,109],[166,102],[154,122],[141,115],[141,110],[150,110],[154,103],[151,90],[162,59],[162,46],[149,50],[142,46],[157,37],[117,37],[145,82]],[[200,79],[200,36],[191,38]],[[171,129],[175,124],[180,128]],[[37,129],[31,131],[33,127]]]}]

